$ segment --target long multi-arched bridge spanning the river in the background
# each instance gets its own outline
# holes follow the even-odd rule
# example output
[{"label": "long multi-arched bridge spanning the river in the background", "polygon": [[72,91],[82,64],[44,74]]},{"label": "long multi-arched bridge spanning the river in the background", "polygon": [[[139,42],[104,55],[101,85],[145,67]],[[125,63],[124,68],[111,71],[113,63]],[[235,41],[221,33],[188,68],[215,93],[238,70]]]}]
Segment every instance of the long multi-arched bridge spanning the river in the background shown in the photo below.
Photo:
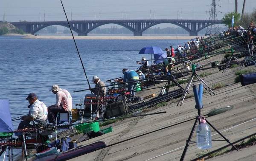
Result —
[{"label": "long multi-arched bridge spanning the river in the background", "polygon": [[[189,36],[198,36],[198,31],[206,28],[209,25],[221,24],[221,20],[210,22],[209,20],[75,20],[70,21],[70,26],[73,31],[79,36],[87,36],[93,29],[106,24],[116,24],[128,28],[134,33],[134,36],[142,36],[143,31],[161,23],[171,23],[177,25],[189,32]],[[35,34],[50,25],[61,25],[68,27],[67,21],[44,21],[44,22],[13,22],[11,23],[17,28],[22,29],[26,33]]]}]

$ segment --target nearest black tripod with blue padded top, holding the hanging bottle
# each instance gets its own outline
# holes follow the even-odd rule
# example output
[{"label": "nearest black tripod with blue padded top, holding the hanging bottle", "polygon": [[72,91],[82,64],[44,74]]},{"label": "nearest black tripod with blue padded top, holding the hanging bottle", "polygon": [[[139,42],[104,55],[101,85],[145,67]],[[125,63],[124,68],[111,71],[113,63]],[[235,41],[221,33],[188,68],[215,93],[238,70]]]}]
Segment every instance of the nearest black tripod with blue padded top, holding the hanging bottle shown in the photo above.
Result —
[{"label": "nearest black tripod with blue padded top, holding the hanging bottle", "polygon": [[[199,121],[199,118],[201,117],[201,108],[203,108],[203,105],[202,105],[202,95],[203,95],[203,90],[200,90],[200,86],[201,84],[199,85],[199,92],[197,92],[197,89],[196,89],[196,86],[194,85],[193,86],[193,91],[194,91],[194,95],[195,95],[195,102],[196,102],[196,105],[195,105],[195,108],[198,110],[198,116],[196,116],[196,119],[195,119],[195,123],[191,129],[191,132],[189,134],[189,138],[186,140],[186,146],[183,150],[183,153],[180,157],[180,161],[183,161],[184,158],[185,158],[185,155],[186,155],[186,151],[189,147],[189,144],[191,142],[191,139],[192,139],[192,136],[193,136],[193,133],[195,132],[195,127],[197,125],[197,123],[199,122],[200,124],[200,121]],[[202,87],[201,87],[202,88]],[[223,136],[211,123],[209,123],[209,121],[207,121],[207,119],[205,119],[205,121],[207,122],[207,124],[210,125],[210,127],[212,127],[222,138],[225,139],[225,141],[227,141],[227,143],[229,143],[233,148],[235,148],[237,151],[238,149],[227,139],[225,138],[225,136]]]}]

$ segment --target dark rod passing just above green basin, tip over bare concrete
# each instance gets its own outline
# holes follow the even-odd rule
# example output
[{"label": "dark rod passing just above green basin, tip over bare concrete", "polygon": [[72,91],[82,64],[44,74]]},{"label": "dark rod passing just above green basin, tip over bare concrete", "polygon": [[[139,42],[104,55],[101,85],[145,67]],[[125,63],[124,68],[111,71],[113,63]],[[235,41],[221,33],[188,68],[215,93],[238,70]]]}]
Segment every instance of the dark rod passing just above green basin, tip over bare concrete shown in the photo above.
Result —
[{"label": "dark rod passing just above green basin, tip over bare concrete", "polygon": [[64,124],[64,125],[58,125],[58,126],[56,126],[56,127],[57,127],[57,128],[58,128],[58,127],[67,127],[67,126],[79,125],[79,124],[84,124],[84,123],[92,123],[92,122],[102,122],[102,121],[111,121],[111,120],[127,119],[127,118],[132,118],[132,117],[157,115],[157,114],[163,114],[163,113],[166,113],[166,111],[163,111],[163,112],[156,112],[156,113],[148,113],[148,114],[141,114],[141,115],[133,115],[133,116],[124,116],[124,117],[118,117],[118,118],[113,118],[113,119],[104,119],[104,120],[87,121],[87,122],[76,123],[76,124]]}]

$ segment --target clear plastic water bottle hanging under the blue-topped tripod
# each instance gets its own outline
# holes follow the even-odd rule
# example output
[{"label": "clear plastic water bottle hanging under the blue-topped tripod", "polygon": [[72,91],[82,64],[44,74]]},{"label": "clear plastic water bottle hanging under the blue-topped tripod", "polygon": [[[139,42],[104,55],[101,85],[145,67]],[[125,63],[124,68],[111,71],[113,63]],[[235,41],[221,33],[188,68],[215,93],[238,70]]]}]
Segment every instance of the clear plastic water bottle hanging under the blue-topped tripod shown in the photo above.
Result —
[{"label": "clear plastic water bottle hanging under the blue-topped tripod", "polygon": [[209,149],[212,147],[212,135],[211,129],[207,125],[205,118],[200,116],[199,121],[201,124],[198,125],[196,130],[196,140],[199,149]]}]

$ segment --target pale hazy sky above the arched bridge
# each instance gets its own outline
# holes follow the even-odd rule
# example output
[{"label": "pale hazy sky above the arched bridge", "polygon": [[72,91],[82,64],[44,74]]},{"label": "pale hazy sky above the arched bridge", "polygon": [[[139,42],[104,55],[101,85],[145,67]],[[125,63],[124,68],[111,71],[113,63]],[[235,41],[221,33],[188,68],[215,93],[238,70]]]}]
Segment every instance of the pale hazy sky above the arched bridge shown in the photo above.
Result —
[{"label": "pale hazy sky above the arched bridge", "polygon": [[[238,0],[241,13],[243,0]],[[256,8],[246,0],[245,12]],[[209,19],[212,0],[63,0],[69,20]],[[218,20],[234,11],[235,0],[216,0]],[[96,14],[95,14],[96,13]],[[16,22],[65,20],[60,0],[0,0],[0,20]]]}]

